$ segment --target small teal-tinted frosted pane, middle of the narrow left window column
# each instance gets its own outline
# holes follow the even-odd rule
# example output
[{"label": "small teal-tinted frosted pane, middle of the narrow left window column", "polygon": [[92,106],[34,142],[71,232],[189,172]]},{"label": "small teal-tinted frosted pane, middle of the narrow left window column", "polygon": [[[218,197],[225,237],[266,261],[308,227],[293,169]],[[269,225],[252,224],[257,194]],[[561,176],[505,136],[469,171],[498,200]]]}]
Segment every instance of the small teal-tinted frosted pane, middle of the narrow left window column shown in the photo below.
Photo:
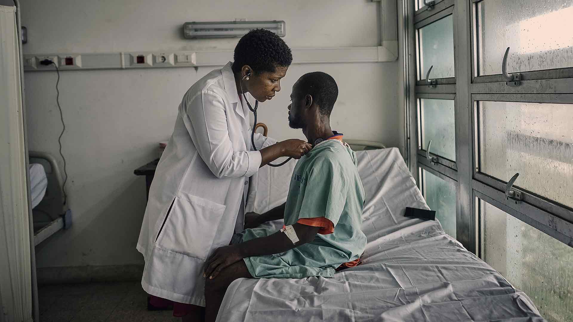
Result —
[{"label": "small teal-tinted frosted pane, middle of the narrow left window column", "polygon": [[456,160],[456,128],[454,100],[419,99],[422,149],[431,140],[430,152]]}]

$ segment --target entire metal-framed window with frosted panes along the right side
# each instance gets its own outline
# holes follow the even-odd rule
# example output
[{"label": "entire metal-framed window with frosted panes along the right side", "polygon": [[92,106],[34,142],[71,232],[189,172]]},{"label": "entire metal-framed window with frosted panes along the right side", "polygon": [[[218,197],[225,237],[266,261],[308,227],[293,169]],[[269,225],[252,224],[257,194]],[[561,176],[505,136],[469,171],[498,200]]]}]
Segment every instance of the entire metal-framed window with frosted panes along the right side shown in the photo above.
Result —
[{"label": "entire metal-framed window with frosted panes along the right side", "polygon": [[573,320],[573,2],[405,9],[406,155],[427,204],[545,319]]}]

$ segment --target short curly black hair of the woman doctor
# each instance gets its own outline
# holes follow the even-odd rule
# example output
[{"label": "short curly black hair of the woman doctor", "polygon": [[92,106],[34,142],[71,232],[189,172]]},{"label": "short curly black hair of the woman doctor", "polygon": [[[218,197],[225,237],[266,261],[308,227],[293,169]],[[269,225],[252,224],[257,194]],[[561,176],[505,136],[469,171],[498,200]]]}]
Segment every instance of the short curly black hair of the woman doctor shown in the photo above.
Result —
[{"label": "short curly black hair of the woman doctor", "polygon": [[249,65],[254,73],[274,72],[276,65],[288,67],[291,62],[291,48],[276,33],[253,29],[235,47],[233,73],[240,72],[244,65]]}]

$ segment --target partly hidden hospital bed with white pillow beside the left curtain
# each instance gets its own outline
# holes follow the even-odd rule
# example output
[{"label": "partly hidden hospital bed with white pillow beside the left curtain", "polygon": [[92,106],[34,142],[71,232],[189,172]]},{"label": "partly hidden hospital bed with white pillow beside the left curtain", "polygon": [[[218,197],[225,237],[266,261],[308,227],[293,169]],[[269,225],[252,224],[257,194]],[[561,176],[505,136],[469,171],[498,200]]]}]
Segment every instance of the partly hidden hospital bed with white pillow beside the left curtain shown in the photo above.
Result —
[{"label": "partly hidden hospital bed with white pillow beside the left curtain", "polygon": [[63,182],[56,159],[45,152],[29,151],[30,198],[34,246],[72,225],[72,213],[64,205]]}]

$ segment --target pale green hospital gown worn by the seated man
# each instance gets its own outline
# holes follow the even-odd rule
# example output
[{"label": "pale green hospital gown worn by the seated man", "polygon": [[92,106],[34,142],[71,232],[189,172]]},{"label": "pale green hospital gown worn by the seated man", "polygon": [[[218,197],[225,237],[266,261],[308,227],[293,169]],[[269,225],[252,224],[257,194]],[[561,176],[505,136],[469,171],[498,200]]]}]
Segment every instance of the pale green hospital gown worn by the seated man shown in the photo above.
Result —
[{"label": "pale green hospital gown worn by the seated man", "polygon": [[[362,232],[364,188],[356,154],[336,139],[318,144],[303,156],[293,171],[285,207],[285,225],[300,218],[325,217],[334,233],[317,234],[312,242],[284,253],[244,258],[253,277],[333,277],[335,269],[356,260],[366,247]],[[242,242],[266,237],[276,230],[246,229]]]}]

